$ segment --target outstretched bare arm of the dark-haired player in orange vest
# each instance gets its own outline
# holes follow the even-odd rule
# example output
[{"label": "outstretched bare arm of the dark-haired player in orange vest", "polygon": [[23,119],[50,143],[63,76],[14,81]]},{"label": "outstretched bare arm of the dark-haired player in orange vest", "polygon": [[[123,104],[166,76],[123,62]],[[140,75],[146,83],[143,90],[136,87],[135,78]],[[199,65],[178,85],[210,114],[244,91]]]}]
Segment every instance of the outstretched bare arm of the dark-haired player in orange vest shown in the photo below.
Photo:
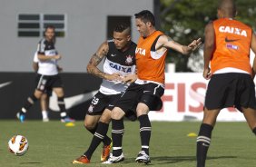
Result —
[{"label": "outstretched bare arm of the dark-haired player in orange vest", "polygon": [[155,48],[157,52],[164,52],[166,49],[171,48],[181,54],[190,54],[192,51],[196,50],[200,44],[201,38],[193,40],[189,45],[182,45],[173,41],[170,36],[162,35],[155,44]]}]

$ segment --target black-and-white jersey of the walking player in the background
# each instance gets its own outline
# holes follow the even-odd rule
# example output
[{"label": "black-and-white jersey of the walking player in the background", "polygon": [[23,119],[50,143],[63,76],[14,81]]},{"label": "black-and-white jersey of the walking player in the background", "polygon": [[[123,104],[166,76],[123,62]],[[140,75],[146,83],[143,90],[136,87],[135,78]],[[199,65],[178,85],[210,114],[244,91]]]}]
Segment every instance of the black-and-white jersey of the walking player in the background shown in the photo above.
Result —
[{"label": "black-and-white jersey of the walking player in the background", "polygon": [[[38,46],[37,46],[37,52],[36,52],[36,57],[37,54],[44,54],[45,56],[53,56],[58,54],[58,52],[55,50],[54,47],[54,42],[49,42],[45,39],[42,39]],[[34,58],[36,60],[36,58]],[[58,69],[57,69],[57,60],[51,59],[47,61],[40,61],[37,57],[38,61],[38,74],[43,74],[43,75],[55,75],[58,74]]]}]

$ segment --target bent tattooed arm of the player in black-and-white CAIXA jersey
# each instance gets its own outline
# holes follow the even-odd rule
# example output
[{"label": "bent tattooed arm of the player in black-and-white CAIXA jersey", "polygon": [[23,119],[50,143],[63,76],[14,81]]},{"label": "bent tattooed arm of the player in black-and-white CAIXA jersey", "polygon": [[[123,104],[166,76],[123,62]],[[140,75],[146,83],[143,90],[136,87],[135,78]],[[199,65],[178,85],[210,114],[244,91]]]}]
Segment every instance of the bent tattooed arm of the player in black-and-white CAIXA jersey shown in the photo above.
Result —
[{"label": "bent tattooed arm of the player in black-and-white CAIXA jersey", "polygon": [[109,46],[107,42],[101,44],[97,52],[91,57],[89,64],[87,64],[87,72],[105,80],[119,80],[120,74],[105,74],[97,68],[97,65],[102,62],[108,51]]}]

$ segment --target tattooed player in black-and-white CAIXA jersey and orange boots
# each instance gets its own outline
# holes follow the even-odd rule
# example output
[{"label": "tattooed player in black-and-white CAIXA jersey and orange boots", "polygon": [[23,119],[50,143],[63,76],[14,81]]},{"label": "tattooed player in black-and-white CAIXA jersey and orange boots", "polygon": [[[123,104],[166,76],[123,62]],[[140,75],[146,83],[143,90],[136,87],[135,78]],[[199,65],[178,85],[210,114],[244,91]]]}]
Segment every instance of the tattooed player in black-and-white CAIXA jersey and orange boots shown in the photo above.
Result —
[{"label": "tattooed player in black-and-white CAIXA jersey and orange boots", "polygon": [[[113,30],[113,41],[101,44],[87,65],[87,72],[103,78],[103,83],[99,92],[95,94],[84,119],[85,128],[94,134],[93,140],[84,155],[74,160],[73,163],[90,163],[100,142],[103,142],[101,161],[108,159],[112,140],[106,133],[111,121],[111,110],[128,87],[127,83],[133,83],[136,79],[135,48],[136,44],[131,41],[130,26],[117,25]],[[102,72],[97,65],[103,59]],[[130,115],[130,118],[132,117],[136,119],[134,114]]]}]

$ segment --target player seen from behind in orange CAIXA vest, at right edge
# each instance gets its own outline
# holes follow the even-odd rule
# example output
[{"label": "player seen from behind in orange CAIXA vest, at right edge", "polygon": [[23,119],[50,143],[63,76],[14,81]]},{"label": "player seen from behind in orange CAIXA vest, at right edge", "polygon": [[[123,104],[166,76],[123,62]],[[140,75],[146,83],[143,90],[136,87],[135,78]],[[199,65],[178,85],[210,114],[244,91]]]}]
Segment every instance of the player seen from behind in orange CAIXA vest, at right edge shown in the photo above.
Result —
[{"label": "player seen from behind in orange CAIXA vest, at right edge", "polygon": [[222,0],[219,19],[205,27],[203,77],[211,80],[197,137],[197,167],[205,166],[212,130],[222,108],[239,109],[256,134],[255,59],[252,68],[250,64],[250,49],[256,53],[256,36],[251,27],[234,20],[235,15],[234,2]]}]

